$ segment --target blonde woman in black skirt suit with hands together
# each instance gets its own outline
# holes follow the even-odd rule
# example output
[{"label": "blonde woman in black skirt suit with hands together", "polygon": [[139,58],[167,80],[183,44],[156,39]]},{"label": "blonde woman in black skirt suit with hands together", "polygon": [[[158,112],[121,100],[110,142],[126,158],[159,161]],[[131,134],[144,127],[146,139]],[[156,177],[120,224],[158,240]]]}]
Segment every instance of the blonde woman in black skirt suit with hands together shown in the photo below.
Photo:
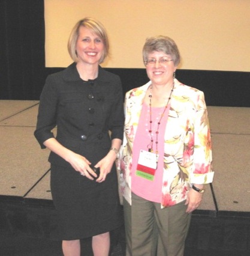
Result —
[{"label": "blonde woman in black skirt suit with hands together", "polygon": [[35,137],[51,151],[50,185],[64,255],[80,256],[80,239],[92,237],[94,255],[107,256],[109,231],[122,225],[115,168],[124,128],[122,85],[100,66],[109,40],[98,20],[76,23],[68,51],[73,64],[44,85]]}]

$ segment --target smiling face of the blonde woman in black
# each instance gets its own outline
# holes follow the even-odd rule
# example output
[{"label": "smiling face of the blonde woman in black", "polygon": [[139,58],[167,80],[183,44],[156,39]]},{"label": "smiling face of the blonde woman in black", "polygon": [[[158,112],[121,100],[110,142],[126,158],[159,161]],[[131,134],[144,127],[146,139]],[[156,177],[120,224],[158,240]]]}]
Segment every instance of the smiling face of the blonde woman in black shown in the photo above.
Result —
[{"label": "smiling face of the blonde woman in black", "polygon": [[76,41],[76,52],[82,64],[97,65],[104,54],[103,40],[91,29],[81,26]]}]

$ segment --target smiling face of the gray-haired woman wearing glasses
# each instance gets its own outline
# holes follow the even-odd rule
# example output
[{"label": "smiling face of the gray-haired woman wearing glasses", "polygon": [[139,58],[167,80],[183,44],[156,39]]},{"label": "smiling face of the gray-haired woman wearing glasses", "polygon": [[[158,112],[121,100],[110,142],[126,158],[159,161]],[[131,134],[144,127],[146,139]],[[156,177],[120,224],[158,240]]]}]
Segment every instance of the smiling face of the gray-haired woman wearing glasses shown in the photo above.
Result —
[{"label": "smiling face of the gray-haired woman wearing glasses", "polygon": [[153,64],[146,64],[146,71],[148,78],[152,81],[152,85],[166,85],[173,83],[173,73],[176,71],[173,61],[167,61],[164,64],[159,62],[161,58],[172,59],[171,55],[167,55],[164,52],[150,52],[147,55],[147,59],[156,59]]}]

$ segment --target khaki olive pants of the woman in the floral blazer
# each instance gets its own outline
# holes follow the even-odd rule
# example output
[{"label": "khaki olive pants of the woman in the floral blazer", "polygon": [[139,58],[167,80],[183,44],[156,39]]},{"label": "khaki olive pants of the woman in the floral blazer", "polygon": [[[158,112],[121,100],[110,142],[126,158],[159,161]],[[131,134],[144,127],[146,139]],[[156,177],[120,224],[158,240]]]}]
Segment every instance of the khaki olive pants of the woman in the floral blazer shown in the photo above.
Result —
[{"label": "khaki olive pants of the woman in the floral blazer", "polygon": [[132,194],[132,206],[124,199],[126,256],[183,256],[191,215],[185,201],[161,209]]}]

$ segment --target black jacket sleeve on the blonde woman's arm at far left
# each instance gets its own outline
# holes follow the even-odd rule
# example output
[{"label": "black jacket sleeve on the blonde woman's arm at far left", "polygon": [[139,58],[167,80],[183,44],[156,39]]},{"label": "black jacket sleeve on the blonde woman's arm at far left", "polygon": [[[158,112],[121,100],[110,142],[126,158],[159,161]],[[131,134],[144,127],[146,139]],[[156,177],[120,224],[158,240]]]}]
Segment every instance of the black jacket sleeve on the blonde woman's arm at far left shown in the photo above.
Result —
[{"label": "black jacket sleeve on the blonde woman's arm at far left", "polygon": [[53,76],[48,76],[46,84],[40,96],[38,108],[37,127],[34,132],[35,138],[41,148],[46,148],[44,141],[55,138],[52,129],[56,127],[56,109],[58,105],[58,93],[56,92],[56,82]]}]

